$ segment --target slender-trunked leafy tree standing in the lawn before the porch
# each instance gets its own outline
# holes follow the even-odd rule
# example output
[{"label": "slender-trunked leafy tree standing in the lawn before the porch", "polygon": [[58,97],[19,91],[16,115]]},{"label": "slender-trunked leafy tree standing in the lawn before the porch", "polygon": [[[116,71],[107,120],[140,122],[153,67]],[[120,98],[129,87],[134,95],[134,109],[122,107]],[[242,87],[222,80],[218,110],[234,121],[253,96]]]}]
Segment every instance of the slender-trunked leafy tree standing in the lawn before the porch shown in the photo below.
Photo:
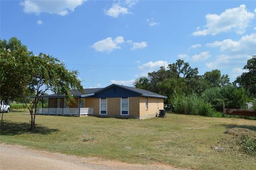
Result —
[{"label": "slender-trunked leafy tree standing in the lawn before the porch", "polygon": [[39,99],[46,91],[51,90],[64,94],[67,100],[72,100],[70,89],[83,91],[81,81],[77,78],[76,70],[68,70],[63,62],[50,55],[40,53],[32,55],[29,60],[30,79],[28,88],[35,91],[35,96],[30,100],[29,112],[31,129],[35,128],[36,109]]}]

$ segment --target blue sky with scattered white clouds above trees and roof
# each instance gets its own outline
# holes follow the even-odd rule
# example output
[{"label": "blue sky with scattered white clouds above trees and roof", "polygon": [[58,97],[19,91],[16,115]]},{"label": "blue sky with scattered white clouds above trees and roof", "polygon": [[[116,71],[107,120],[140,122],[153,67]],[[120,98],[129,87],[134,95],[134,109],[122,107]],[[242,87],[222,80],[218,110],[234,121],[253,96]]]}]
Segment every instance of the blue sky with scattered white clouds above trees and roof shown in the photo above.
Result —
[{"label": "blue sky with scattered white clouds above trees and roof", "polygon": [[256,54],[255,1],[1,1],[0,27],[84,87],[131,86],[177,59],[233,81]]}]

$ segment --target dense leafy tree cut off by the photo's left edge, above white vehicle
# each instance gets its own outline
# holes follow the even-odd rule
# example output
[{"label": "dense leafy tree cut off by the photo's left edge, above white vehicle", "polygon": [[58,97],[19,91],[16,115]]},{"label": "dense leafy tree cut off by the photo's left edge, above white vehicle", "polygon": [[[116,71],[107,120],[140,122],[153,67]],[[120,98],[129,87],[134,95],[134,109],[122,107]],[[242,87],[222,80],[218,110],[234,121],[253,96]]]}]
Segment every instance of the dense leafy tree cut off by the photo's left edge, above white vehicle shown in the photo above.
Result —
[{"label": "dense leafy tree cut off by the photo's left edge, above white vehicle", "polygon": [[10,38],[9,42],[0,39],[0,100],[10,103],[10,100],[32,93],[27,88],[31,54],[27,46],[15,37]]}]

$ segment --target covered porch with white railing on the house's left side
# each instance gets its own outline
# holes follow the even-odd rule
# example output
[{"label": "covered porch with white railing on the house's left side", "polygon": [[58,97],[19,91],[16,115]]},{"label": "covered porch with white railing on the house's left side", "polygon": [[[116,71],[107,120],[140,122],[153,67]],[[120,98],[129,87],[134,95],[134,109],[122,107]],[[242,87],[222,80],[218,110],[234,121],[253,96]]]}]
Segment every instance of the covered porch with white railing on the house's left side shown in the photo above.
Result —
[{"label": "covered porch with white railing on the house's left side", "polygon": [[82,116],[93,115],[93,108],[85,107],[85,98],[75,98],[67,103],[65,98],[41,98],[42,108],[37,115]]}]

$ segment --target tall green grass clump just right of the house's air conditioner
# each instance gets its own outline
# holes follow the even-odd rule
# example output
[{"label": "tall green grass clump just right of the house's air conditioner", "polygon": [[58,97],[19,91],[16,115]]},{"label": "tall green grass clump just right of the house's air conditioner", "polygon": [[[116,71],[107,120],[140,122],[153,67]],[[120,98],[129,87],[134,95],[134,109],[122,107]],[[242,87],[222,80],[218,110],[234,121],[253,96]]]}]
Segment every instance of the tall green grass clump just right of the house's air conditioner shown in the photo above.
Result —
[{"label": "tall green grass clump just right of the house's air conditioner", "polygon": [[196,94],[175,95],[172,98],[172,108],[174,112],[186,115],[201,115],[209,117],[221,117],[221,113],[213,109],[210,103]]}]

